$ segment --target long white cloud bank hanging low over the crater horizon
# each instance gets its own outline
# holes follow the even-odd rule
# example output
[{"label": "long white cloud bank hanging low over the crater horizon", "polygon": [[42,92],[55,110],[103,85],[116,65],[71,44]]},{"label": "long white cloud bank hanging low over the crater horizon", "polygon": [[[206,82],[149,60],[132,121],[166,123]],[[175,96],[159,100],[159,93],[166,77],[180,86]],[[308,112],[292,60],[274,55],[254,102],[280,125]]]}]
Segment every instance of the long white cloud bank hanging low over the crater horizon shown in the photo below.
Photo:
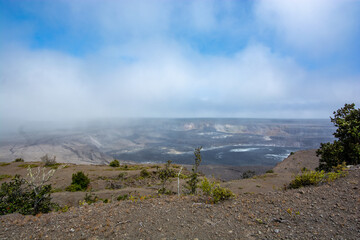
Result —
[{"label": "long white cloud bank hanging low over the crater horizon", "polygon": [[297,87],[308,77],[290,58],[262,45],[233,57],[202,56],[162,40],[126,48],[136,60],[110,66],[107,51],[76,59],[52,51],[9,50],[2,61],[1,111],[5,118],[33,120],[199,112],[243,116],[247,106],[302,99]]}]

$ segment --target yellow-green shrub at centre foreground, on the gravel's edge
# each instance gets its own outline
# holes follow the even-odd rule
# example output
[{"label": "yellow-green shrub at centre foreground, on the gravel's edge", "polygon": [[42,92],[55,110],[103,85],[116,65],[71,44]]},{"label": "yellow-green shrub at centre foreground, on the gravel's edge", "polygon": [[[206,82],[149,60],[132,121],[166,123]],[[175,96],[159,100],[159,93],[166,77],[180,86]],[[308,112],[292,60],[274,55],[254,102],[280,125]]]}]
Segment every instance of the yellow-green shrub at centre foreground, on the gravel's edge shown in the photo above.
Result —
[{"label": "yellow-green shrub at centre foreground, on the gravel's edge", "polygon": [[210,183],[206,177],[201,181],[200,188],[212,203],[218,203],[234,197],[234,194],[229,189],[220,187],[215,182]]}]

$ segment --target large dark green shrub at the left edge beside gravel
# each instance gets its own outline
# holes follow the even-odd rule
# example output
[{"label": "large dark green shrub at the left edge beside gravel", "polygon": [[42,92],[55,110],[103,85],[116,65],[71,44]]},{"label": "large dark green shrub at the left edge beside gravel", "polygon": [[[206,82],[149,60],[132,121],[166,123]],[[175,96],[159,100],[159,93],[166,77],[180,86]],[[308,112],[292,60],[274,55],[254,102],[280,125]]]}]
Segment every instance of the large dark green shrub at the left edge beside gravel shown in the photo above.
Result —
[{"label": "large dark green shrub at the left edge beside gravel", "polygon": [[39,185],[36,189],[16,175],[11,182],[1,184],[0,215],[47,213],[56,204],[51,202],[51,185]]}]

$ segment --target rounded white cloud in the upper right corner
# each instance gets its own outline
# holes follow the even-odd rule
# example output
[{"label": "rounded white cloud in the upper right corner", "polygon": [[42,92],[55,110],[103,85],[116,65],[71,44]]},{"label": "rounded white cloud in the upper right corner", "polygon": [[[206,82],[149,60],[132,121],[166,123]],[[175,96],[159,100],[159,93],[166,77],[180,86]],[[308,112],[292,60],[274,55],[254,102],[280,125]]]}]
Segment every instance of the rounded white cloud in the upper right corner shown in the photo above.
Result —
[{"label": "rounded white cloud in the upper right corner", "polygon": [[346,47],[358,26],[358,7],[353,0],[263,0],[257,2],[256,15],[283,43],[326,57]]}]

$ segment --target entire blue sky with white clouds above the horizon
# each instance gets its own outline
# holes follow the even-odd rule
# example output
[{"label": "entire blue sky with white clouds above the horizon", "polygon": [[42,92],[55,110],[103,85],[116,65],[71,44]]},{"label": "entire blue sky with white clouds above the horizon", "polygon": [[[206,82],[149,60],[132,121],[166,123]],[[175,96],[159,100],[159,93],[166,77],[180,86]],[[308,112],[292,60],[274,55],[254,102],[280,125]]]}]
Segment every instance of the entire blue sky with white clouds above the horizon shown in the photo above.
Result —
[{"label": "entire blue sky with white clouds above the horizon", "polygon": [[0,118],[328,118],[360,1],[0,0]]}]

